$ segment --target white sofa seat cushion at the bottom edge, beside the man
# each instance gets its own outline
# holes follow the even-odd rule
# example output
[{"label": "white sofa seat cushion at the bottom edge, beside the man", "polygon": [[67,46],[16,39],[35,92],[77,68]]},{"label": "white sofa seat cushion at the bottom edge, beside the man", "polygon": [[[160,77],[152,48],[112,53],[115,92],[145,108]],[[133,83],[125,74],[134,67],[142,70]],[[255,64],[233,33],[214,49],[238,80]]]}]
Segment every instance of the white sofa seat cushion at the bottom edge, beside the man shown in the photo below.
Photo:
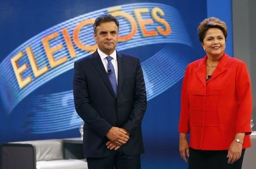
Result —
[{"label": "white sofa seat cushion at the bottom edge, beside the man", "polygon": [[63,159],[36,162],[37,169],[88,169],[87,162],[82,159]]}]

